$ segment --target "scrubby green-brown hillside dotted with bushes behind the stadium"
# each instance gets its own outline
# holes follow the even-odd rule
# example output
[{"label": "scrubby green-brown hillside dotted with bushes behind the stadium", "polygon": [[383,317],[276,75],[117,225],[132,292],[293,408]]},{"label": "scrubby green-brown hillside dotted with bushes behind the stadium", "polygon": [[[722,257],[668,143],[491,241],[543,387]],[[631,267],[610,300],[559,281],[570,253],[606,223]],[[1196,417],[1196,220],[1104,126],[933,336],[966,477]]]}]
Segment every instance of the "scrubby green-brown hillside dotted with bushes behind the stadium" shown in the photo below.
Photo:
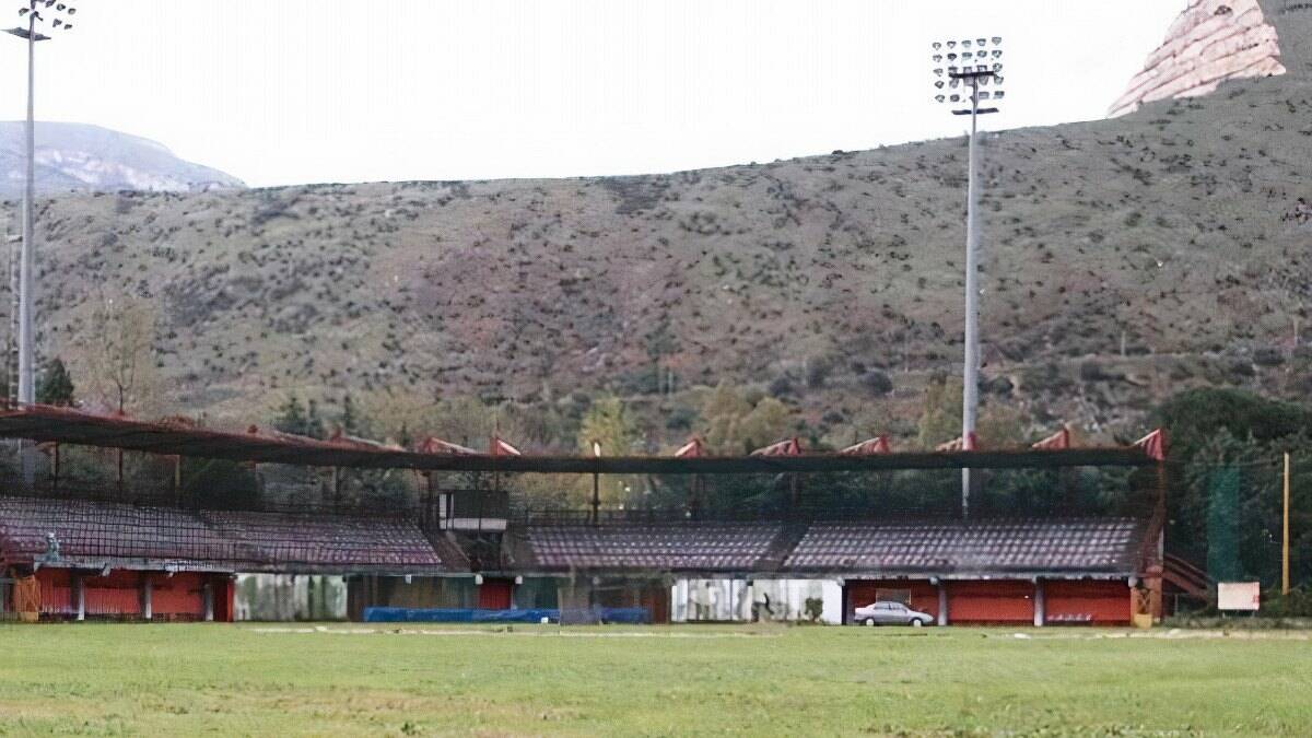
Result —
[{"label": "scrubby green-brown hillside dotted with bushes behind the stadium", "polygon": [[[985,137],[988,397],[1132,427],[1190,383],[1312,389],[1312,5],[1290,74]],[[308,185],[42,202],[47,355],[105,295],[157,307],[174,402],[289,391],[517,401],[781,377],[808,416],[913,414],[959,372],[966,142],[640,177]],[[10,204],[10,230],[16,230]],[[4,301],[8,305],[8,301]],[[865,391],[871,369],[895,390]],[[778,386],[778,385],[777,385]]]}]

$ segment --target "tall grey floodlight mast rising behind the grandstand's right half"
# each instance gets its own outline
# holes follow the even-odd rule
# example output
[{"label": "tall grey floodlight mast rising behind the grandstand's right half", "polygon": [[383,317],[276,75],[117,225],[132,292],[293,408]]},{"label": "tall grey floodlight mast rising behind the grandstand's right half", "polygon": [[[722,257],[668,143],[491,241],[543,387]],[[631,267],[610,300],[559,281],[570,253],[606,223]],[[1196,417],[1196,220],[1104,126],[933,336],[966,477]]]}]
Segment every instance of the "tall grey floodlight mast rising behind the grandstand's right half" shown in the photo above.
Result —
[{"label": "tall grey floodlight mast rising behind the grandstand's right half", "polygon": [[[934,100],[939,104],[951,102],[954,116],[971,117],[970,164],[966,194],[966,361],[962,377],[962,450],[975,449],[975,420],[979,415],[979,154],[977,125],[980,116],[997,113],[992,101],[1002,100],[1001,89],[980,89],[1002,84],[1002,38],[976,38],[971,41],[935,41],[934,88],[939,92]],[[945,92],[946,88],[946,92]],[[984,108],[981,102],[989,104]],[[964,105],[964,108],[962,106]],[[970,515],[971,469],[962,469],[962,516]]]}]

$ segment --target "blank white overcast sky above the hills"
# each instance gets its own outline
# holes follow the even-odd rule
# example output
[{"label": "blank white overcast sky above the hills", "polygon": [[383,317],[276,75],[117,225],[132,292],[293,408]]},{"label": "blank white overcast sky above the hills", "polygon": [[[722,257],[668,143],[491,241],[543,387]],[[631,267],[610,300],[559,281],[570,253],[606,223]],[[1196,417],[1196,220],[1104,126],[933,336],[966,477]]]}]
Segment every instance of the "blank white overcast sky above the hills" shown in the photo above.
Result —
[{"label": "blank white overcast sky above the hills", "polygon": [[[37,117],[251,185],[558,177],[939,138],[937,38],[1004,37],[993,129],[1099,118],[1185,0],[60,0]],[[17,22],[20,3],[0,0]],[[24,46],[0,38],[0,118]]]}]

